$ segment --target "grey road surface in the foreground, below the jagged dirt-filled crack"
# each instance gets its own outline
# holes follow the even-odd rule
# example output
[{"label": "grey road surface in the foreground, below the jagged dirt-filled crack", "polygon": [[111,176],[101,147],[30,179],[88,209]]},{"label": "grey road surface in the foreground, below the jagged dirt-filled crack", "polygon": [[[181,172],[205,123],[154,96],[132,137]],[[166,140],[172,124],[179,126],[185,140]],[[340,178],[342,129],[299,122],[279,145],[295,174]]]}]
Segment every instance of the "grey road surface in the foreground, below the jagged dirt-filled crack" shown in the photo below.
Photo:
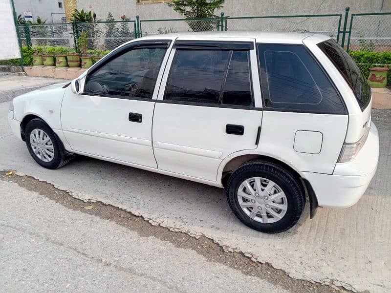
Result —
[{"label": "grey road surface in the foreground, below the jagged dirt-filled crack", "polygon": [[10,181],[0,180],[2,292],[288,292]]}]

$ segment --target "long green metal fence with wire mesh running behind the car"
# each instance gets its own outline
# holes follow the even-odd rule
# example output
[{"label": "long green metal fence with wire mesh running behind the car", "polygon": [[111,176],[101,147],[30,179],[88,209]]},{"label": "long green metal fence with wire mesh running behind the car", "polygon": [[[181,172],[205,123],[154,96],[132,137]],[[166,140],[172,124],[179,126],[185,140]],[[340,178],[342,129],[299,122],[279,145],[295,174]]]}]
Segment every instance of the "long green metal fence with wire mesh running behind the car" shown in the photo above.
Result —
[{"label": "long green metal fence with wire mesh running behind the car", "polygon": [[334,38],[347,50],[391,50],[391,12],[44,23],[17,26],[22,45],[65,46],[79,51],[78,37],[88,32],[88,49],[112,50],[135,38],[197,31],[311,32]]}]

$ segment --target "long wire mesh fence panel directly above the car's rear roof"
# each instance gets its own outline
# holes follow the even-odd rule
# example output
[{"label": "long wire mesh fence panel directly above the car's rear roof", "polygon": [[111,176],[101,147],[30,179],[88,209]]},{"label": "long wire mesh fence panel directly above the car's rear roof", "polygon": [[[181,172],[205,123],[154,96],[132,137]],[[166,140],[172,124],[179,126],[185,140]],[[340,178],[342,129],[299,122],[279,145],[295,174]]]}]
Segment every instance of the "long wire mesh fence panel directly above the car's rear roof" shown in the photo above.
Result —
[{"label": "long wire mesh fence panel directly above the car's rear roof", "polygon": [[337,39],[342,15],[263,16],[227,18],[228,31],[311,32]]}]

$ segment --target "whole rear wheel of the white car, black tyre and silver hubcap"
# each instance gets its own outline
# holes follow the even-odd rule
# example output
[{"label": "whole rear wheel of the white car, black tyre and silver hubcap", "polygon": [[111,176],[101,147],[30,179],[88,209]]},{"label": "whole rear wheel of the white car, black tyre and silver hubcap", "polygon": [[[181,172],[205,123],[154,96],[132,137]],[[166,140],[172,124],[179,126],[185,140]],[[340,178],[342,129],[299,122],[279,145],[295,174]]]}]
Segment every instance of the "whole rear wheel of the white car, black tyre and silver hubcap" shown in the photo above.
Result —
[{"label": "whole rear wheel of the white car, black tyre and silver hubcap", "polygon": [[305,193],[300,184],[277,164],[249,162],[229,177],[227,199],[244,225],[265,233],[280,233],[292,228],[303,212]]}]

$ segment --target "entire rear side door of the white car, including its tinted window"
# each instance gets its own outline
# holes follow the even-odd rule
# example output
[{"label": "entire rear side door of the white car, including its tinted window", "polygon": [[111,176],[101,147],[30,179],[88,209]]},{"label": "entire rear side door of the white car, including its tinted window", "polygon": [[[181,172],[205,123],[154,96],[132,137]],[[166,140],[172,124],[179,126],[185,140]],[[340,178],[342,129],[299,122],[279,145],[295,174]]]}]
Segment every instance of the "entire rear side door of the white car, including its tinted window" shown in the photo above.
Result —
[{"label": "entire rear side door of the white car, including its tinted window", "polygon": [[170,53],[153,114],[153,151],[159,169],[216,181],[225,157],[257,147],[255,40],[198,38],[178,38]]}]

